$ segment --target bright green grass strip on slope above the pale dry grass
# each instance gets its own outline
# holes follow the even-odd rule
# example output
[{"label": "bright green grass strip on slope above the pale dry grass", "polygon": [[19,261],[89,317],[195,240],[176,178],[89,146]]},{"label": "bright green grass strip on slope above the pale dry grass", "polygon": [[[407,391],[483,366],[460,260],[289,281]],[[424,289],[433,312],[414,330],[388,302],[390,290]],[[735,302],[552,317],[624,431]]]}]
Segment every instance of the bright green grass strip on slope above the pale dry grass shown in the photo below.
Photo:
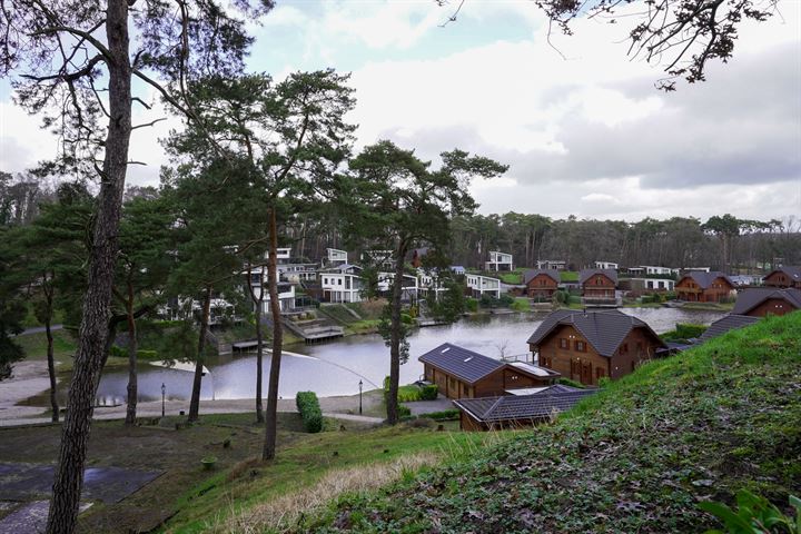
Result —
[{"label": "bright green grass strip on slope above the pale dry grass", "polygon": [[[348,422],[344,422],[349,425]],[[421,452],[451,458],[476,451],[486,435],[436,432],[402,424],[368,431],[333,431],[304,436],[279,451],[276,461],[256,459],[221,471],[180,496],[166,532],[199,533],[287,493],[313,486],[332,469],[383,463]],[[454,428],[455,423],[446,423]],[[256,472],[256,474],[254,474]]]}]

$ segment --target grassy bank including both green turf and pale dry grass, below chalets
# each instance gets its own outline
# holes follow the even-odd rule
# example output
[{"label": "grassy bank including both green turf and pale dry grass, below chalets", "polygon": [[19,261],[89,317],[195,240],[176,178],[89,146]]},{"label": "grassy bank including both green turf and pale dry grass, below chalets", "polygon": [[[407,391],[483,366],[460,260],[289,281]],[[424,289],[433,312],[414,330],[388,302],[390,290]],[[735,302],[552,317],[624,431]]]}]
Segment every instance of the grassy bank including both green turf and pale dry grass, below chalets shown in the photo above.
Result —
[{"label": "grassy bank including both green turf and pale dry grass, below chalets", "polygon": [[[454,428],[454,423],[447,425]],[[334,429],[299,437],[275,462],[248,458],[191,487],[178,498],[178,513],[164,532],[264,532],[288,526],[342,493],[411,479],[425,466],[464,458],[487,441],[502,438],[437,432],[433,422],[377,429],[342,431],[338,424],[329,428]]]}]

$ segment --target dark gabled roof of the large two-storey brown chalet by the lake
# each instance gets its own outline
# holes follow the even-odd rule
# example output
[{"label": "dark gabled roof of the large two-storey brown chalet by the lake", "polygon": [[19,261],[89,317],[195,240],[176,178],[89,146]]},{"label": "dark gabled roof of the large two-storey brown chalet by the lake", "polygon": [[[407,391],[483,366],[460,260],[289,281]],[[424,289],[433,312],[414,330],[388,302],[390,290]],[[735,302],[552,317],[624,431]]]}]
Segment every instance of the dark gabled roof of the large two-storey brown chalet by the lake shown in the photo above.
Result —
[{"label": "dark gabled roof of the large two-storey brown chalet by the lake", "polygon": [[[540,345],[557,326],[562,325],[573,326],[601,356],[606,357],[611,357],[617,350],[623,339],[634,328],[646,328],[654,338],[659,339],[656,333],[645,322],[616,309],[603,312],[557,309],[545,317],[545,320],[528,338],[528,343]],[[665,346],[661,339],[660,344]]]}]

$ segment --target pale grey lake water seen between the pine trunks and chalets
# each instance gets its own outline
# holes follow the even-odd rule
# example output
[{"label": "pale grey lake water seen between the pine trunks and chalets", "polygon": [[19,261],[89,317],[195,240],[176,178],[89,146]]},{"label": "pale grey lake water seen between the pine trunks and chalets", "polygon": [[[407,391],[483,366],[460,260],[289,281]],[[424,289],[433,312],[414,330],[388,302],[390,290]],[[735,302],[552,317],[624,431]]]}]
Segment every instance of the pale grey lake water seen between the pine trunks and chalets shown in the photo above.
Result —
[{"label": "pale grey lake water seen between the pine trunks and chalets", "polygon": [[[672,308],[623,308],[623,313],[646,322],[657,334],[675,327],[676,323],[710,324],[723,314],[715,312]],[[451,326],[434,326],[415,330],[411,338],[409,360],[400,366],[400,383],[421,377],[423,365],[417,357],[443,343],[453,343],[486,356],[501,355],[524,358],[528,355],[526,339],[542,323],[545,314],[498,315],[469,318]],[[278,394],[294,397],[297,392],[314,390],[320,396],[353,395],[362,380],[365,390],[380,387],[389,370],[389,350],[378,335],[352,336],[322,345],[300,345],[287,350],[308,356],[284,355]],[[224,356],[207,364],[210,375],[204,377],[202,399],[250,398],[256,394],[256,357]],[[265,354],[264,390],[267,390],[269,356]],[[103,375],[99,396],[125,397],[128,374]],[[161,398],[161,383],[169,398],[189,398],[192,374],[175,369],[148,368],[139,373],[141,400]]]}]

